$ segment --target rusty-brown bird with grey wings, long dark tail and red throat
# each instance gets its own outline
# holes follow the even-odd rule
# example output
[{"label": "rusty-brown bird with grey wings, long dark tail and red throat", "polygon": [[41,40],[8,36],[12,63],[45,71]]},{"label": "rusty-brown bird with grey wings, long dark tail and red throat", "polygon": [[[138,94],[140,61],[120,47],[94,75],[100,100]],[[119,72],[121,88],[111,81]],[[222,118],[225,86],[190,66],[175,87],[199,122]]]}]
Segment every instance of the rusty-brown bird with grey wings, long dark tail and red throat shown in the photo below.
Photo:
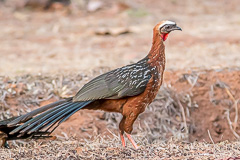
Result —
[{"label": "rusty-brown bird with grey wings, long dark tail and red throat", "polygon": [[80,109],[89,109],[121,113],[119,133],[122,146],[126,146],[126,135],[137,149],[139,146],[131,137],[133,124],[160,89],[165,70],[164,41],[174,30],[182,31],[174,21],[159,22],[153,28],[152,47],[143,59],[93,78],[73,97],[0,121],[2,146],[9,148],[9,140],[49,137],[74,113]]}]

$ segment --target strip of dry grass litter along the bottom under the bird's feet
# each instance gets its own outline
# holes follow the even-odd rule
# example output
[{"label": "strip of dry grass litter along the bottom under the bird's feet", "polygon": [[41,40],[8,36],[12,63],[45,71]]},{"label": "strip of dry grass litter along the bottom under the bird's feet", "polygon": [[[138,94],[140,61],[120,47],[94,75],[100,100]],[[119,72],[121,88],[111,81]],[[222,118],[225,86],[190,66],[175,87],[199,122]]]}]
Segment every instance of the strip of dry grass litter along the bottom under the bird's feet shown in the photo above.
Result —
[{"label": "strip of dry grass litter along the bottom under the bird's feet", "polygon": [[[144,136],[134,137],[145,141]],[[0,149],[1,159],[227,159],[240,155],[240,142],[224,141],[184,143],[174,140],[155,141],[122,148],[118,138],[97,137],[93,141],[30,141],[13,149]]]}]

